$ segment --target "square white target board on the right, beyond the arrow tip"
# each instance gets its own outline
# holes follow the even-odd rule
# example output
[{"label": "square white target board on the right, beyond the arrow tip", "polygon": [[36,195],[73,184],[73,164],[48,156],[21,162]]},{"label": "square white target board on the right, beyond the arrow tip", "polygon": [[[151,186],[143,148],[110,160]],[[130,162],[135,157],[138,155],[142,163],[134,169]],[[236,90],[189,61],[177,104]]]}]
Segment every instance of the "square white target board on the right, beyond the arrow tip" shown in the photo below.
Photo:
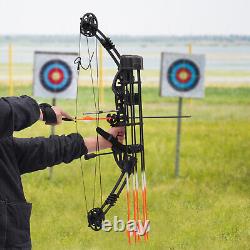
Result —
[{"label": "square white target board on the right, beyond the arrow tip", "polygon": [[161,95],[203,97],[204,67],[203,55],[163,53]]}]

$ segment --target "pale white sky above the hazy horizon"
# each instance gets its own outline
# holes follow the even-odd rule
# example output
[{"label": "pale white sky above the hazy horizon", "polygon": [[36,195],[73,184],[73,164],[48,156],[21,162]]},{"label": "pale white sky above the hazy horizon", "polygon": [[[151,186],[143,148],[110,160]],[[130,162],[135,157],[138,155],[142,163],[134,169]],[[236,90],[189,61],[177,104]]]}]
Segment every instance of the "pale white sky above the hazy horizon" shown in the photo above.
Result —
[{"label": "pale white sky above the hazy horizon", "polygon": [[76,35],[86,12],[110,35],[250,35],[250,0],[0,0],[0,35]]}]

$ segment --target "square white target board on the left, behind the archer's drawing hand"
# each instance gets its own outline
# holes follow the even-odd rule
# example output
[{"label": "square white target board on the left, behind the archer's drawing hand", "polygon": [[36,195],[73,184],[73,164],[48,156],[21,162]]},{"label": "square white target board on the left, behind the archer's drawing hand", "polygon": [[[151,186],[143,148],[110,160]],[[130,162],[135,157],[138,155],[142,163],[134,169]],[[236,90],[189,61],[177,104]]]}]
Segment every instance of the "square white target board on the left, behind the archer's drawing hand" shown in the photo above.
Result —
[{"label": "square white target board on the left, behind the archer's drawing hand", "polygon": [[76,53],[35,52],[34,96],[76,98]]}]

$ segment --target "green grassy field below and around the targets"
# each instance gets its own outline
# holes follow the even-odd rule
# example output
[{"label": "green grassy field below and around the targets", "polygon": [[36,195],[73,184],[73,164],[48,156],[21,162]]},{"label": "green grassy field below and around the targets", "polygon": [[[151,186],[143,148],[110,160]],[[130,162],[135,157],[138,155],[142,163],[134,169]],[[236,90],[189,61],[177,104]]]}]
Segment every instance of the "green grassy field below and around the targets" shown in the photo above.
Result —
[{"label": "green grassy field below and around the targets", "polygon": [[[1,95],[6,94],[0,89]],[[19,87],[15,94],[30,94]],[[113,108],[105,90],[103,108]],[[161,98],[158,89],[143,90],[144,114],[175,115],[177,100]],[[59,101],[74,114],[74,101]],[[90,88],[81,88],[79,111],[93,110]],[[174,177],[176,120],[145,121],[150,239],[128,246],[124,233],[94,232],[87,227],[79,161],[23,176],[27,200],[33,203],[33,249],[250,249],[250,88],[206,89],[203,100],[185,100],[181,144],[181,176]],[[108,128],[106,123],[101,126]],[[94,134],[95,123],[79,125],[83,136]],[[75,132],[71,123],[58,134]],[[48,136],[42,123],[16,134]],[[93,162],[84,164],[88,205]],[[112,157],[102,158],[106,195],[119,171]],[[105,196],[104,195],[104,196]],[[125,194],[109,218],[126,218]]]}]

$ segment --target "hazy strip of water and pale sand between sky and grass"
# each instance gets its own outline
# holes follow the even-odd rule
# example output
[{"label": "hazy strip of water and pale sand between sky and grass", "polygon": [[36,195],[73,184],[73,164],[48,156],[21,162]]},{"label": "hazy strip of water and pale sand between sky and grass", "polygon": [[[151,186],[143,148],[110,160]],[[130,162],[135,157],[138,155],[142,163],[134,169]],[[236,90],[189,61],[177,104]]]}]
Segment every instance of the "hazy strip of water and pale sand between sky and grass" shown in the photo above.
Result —
[{"label": "hazy strip of water and pale sand between sky and grass", "polygon": [[[250,84],[250,37],[248,36],[112,36],[121,54],[143,57],[143,82],[156,87],[159,83],[161,53],[164,51],[206,56],[206,84]],[[87,65],[86,41],[82,39],[81,56]],[[35,51],[78,52],[78,36],[2,36],[0,39],[0,83],[8,83],[9,49],[13,56],[13,81],[31,84]],[[95,51],[94,39],[89,40]],[[99,47],[98,47],[99,50]],[[94,57],[95,58],[95,57]],[[93,59],[94,65],[95,59]],[[104,81],[110,82],[115,73],[114,62],[103,53]],[[85,72],[86,73],[86,72]],[[89,74],[81,74],[81,84],[89,84]],[[108,86],[108,85],[107,85]]]}]

